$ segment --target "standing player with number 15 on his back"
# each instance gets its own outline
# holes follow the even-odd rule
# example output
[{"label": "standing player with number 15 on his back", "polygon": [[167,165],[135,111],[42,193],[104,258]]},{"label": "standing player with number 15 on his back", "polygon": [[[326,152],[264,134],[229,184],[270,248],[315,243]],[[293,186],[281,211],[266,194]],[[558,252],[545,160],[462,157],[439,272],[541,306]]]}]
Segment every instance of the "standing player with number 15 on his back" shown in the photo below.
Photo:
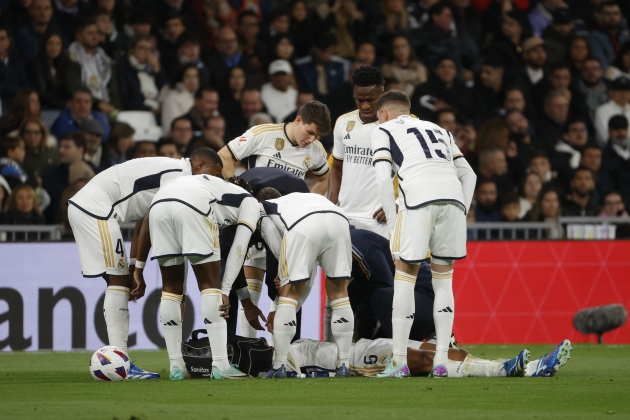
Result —
[{"label": "standing player with number 15 on his back", "polygon": [[[414,286],[431,249],[433,318],[437,338],[431,376],[448,376],[448,346],[455,302],[453,265],[466,257],[466,213],[477,179],[448,131],[410,116],[405,93],[392,90],[377,102],[373,164],[395,258],[393,358],[378,377],[409,376],[407,341],[414,318]],[[392,171],[393,169],[393,171]],[[392,173],[398,175],[396,215]]]}]

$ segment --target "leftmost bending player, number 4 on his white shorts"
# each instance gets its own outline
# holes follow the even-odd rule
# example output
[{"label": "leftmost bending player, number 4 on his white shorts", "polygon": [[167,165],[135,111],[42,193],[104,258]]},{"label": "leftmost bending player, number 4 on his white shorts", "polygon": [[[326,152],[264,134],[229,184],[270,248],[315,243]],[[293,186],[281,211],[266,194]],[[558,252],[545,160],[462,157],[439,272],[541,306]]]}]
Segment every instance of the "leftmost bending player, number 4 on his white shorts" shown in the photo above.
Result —
[{"label": "leftmost bending player, number 4 on his white shorts", "polygon": [[[83,277],[103,277],[107,282],[103,315],[109,344],[128,354],[129,296],[136,245],[143,219],[149,213],[158,189],[182,175],[221,173],[221,160],[207,148],[195,150],[190,159],[165,157],[134,159],[99,173],[68,200],[68,221],[79,249]],[[123,242],[120,224],[137,221],[131,242],[131,260]],[[131,270],[133,273],[133,268]],[[132,298],[140,298],[136,289]],[[159,378],[133,363],[131,379]]]}]

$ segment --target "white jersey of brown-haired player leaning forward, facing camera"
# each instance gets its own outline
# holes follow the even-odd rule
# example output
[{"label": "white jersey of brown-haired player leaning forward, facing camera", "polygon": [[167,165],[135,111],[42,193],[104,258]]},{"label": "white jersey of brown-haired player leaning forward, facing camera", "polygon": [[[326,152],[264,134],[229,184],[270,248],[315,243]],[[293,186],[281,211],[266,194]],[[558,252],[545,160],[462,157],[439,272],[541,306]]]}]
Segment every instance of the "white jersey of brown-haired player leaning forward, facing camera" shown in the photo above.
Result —
[{"label": "white jersey of brown-haired player leaning forward, facing camera", "polygon": [[302,179],[308,171],[322,176],[329,169],[324,146],[319,141],[304,148],[291,143],[286,124],[252,127],[230,141],[227,148],[234,159],[246,160],[248,169],[261,166],[279,168]]}]

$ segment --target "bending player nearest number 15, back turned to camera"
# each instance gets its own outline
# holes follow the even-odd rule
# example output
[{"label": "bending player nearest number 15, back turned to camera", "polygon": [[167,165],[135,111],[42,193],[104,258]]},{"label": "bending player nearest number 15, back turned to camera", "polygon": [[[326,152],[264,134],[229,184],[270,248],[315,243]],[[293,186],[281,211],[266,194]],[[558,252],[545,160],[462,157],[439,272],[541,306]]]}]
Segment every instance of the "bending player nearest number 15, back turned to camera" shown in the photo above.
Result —
[{"label": "bending player nearest number 15, back turned to camera", "polygon": [[261,204],[262,216],[268,216],[282,236],[278,309],[273,320],[271,314],[269,319],[275,356],[266,377],[287,376],[287,354],[295,335],[298,300],[312,286],[318,263],[326,273],[326,294],[333,311],[331,330],[339,349],[337,375],[349,376],[354,316],[348,299],[352,250],[346,216],[317,194],[293,193]]}]

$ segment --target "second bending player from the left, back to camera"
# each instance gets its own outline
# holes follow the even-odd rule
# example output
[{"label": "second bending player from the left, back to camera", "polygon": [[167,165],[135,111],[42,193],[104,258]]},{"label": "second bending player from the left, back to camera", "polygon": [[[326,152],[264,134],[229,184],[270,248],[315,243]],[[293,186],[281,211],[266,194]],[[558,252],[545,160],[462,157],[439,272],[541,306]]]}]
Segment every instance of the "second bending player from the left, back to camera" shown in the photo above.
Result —
[{"label": "second bending player from the left, back to camera", "polygon": [[[162,274],[160,319],[170,359],[170,379],[190,378],[181,350],[184,257],[192,264],[201,292],[201,315],[213,356],[211,378],[247,377],[228,361],[224,317],[229,310],[232,283],[243,265],[259,216],[259,204],[251,194],[206,175],[177,179],[153,198],[149,214],[151,259],[158,260]],[[219,229],[229,226],[236,226],[236,233],[221,282]],[[150,245],[145,240],[140,241],[138,258],[146,259]],[[144,284],[139,266],[136,266],[135,277],[138,283]]]}]

